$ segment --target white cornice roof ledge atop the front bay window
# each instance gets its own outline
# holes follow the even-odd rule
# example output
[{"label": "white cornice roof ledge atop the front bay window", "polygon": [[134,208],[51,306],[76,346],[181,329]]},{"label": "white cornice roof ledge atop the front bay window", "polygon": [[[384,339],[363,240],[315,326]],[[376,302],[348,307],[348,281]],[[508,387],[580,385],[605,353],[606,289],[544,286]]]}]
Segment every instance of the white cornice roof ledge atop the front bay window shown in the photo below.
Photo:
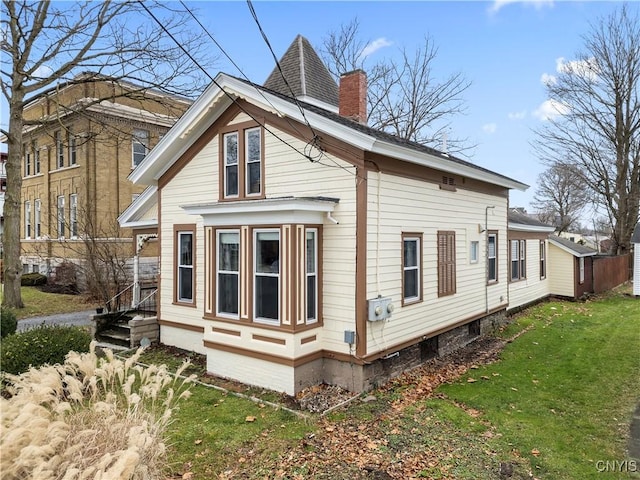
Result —
[{"label": "white cornice roof ledge atop the front bay window", "polygon": [[336,202],[306,198],[278,198],[182,205],[189,215],[199,215],[204,226],[322,224]]}]

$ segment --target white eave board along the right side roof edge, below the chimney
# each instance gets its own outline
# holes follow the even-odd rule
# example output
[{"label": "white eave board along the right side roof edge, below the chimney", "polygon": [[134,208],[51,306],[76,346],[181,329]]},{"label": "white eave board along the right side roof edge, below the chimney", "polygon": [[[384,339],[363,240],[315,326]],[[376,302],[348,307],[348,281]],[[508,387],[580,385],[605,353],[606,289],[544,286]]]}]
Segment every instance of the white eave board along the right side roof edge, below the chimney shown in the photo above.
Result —
[{"label": "white eave board along the right side roof edge, below the chimney", "polygon": [[373,149],[373,152],[389,157],[395,157],[400,160],[404,160],[417,165],[434,168],[436,170],[442,170],[448,173],[455,173],[463,175],[468,178],[480,180],[482,182],[491,183],[493,185],[499,185],[501,187],[513,188],[520,191],[525,191],[529,188],[529,185],[511,180],[491,172],[485,172],[478,170],[470,165],[463,165],[461,163],[449,162],[444,159],[438,158],[435,155],[429,155],[428,153],[418,152],[410,148],[402,147],[400,145],[394,145],[382,140],[378,140]]}]

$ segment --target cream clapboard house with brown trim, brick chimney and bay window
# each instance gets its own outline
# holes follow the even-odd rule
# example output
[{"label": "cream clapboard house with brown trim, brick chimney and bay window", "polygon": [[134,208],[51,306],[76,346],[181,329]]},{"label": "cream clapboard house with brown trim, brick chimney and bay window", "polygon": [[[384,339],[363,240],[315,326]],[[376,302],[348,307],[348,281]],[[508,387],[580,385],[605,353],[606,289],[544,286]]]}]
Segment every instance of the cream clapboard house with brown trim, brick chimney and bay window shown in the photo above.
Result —
[{"label": "cream clapboard house with brown trim, brick chimney and bay window", "polygon": [[252,385],[360,391],[500,321],[509,239],[543,233],[509,233],[527,186],[368,127],[364,73],[338,87],[303,37],[280,64],[286,83],[217,75],[130,175],[161,342]]}]

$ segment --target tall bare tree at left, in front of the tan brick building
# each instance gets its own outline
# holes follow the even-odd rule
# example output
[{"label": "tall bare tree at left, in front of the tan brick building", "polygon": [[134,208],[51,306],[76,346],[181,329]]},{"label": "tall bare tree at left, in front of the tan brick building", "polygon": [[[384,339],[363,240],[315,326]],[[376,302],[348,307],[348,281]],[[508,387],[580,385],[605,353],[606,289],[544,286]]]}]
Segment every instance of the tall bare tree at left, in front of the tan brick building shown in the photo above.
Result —
[{"label": "tall bare tree at left, in front of the tan brick building", "polygon": [[[47,118],[37,120],[24,118],[25,106],[47,88],[105,77],[116,83],[144,86],[114,90],[109,99],[114,95],[147,97],[149,89],[197,95],[203,87],[202,75],[184,51],[203,64],[206,50],[190,29],[187,15],[172,10],[169,3],[147,7],[128,0],[55,4],[47,0],[4,0],[2,9],[0,86],[9,104],[9,127],[2,129],[8,144],[3,304],[20,308],[23,130],[42,126],[43,122],[62,125],[61,119],[70,108],[80,111],[105,98],[59,106]],[[162,26],[149,18],[147,9],[155,12]],[[90,73],[80,75],[82,72]]]}]

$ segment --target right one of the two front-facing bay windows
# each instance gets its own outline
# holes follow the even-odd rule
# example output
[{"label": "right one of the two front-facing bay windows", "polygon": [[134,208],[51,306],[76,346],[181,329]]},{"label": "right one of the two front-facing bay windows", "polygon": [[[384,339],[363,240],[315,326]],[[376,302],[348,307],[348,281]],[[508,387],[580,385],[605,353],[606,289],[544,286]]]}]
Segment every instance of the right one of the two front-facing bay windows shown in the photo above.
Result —
[{"label": "right one of the two front-facing bay windows", "polygon": [[254,230],[254,320],[280,323],[280,230]]}]

